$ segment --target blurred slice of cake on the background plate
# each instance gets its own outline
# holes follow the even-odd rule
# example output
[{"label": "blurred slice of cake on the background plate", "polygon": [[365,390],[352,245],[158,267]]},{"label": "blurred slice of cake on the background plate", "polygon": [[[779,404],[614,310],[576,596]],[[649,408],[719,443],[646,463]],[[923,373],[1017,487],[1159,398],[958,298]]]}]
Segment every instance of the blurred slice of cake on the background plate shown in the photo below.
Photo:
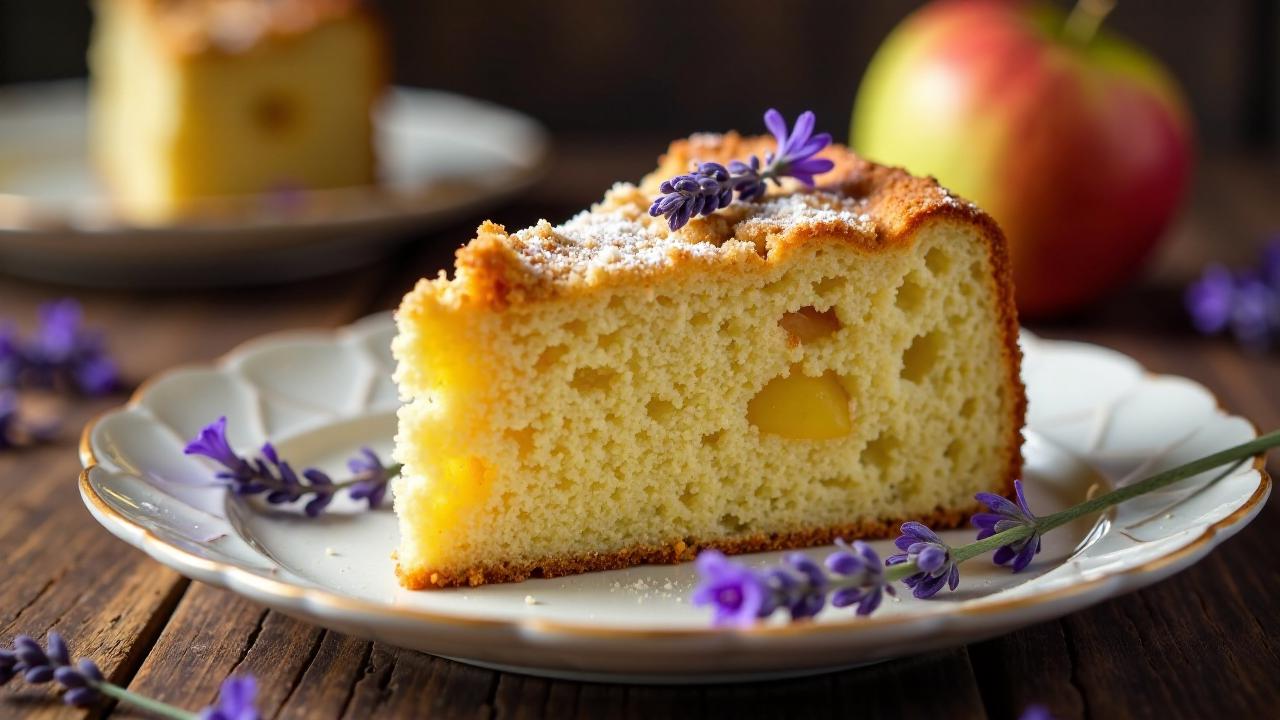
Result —
[{"label": "blurred slice of cake on the background plate", "polygon": [[374,182],[381,33],[355,0],[99,0],[90,146],[127,218]]}]

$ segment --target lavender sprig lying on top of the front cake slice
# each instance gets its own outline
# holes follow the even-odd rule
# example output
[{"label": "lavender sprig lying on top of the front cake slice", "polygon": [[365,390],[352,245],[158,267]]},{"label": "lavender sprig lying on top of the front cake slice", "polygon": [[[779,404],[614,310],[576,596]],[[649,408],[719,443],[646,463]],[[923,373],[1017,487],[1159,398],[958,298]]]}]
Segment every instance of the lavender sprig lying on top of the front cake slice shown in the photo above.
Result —
[{"label": "lavender sprig lying on top of the front cake slice", "polygon": [[806,110],[796,118],[795,128],[787,131],[782,113],[771,108],[764,113],[764,126],[773,133],[778,147],[764,156],[763,168],[755,155],[745,161],[733,160],[728,167],[701,163],[690,173],[664,181],[658,187],[662,195],[649,206],[649,214],[666,217],[667,225],[678,231],[691,218],[727,208],[733,202],[733,193],[740,202],[759,200],[767,190],[765,181],[780,183],[790,177],[813,187],[814,176],[835,167],[826,158],[815,158],[831,145],[831,135],[813,135],[814,123],[814,114]]}]

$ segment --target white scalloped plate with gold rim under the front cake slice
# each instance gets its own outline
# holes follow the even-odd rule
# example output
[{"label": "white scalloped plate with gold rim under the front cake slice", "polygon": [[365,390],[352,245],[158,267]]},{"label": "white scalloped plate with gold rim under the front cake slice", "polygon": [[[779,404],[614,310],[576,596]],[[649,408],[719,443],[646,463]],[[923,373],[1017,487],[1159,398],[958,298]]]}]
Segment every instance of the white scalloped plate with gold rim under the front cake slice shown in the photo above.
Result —
[{"label": "white scalloped plate with gold rim under the front cake slice", "polygon": [[[1129,502],[1051,533],[1029,571],[974,560],[959,592],[906,597],[872,618],[828,609],[814,623],[708,626],[687,602],[690,565],[408,592],[392,573],[396,519],[342,501],[307,520],[228,501],[182,446],[219,415],[237,448],[270,438],[297,465],[340,471],[360,446],[390,450],[396,389],[389,315],[338,332],[253,341],[215,366],[146,383],[84,430],[81,495],[102,525],[175,570],[353,635],[548,676],[611,682],[778,678],[955,646],[1061,616],[1155,583],[1248,523],[1271,482],[1261,462]],[[1050,512],[1253,438],[1202,386],[1151,375],[1102,347],[1024,333],[1032,506]],[[946,533],[964,542],[968,530]],[[887,542],[879,542],[882,553]],[[819,556],[823,551],[812,551]],[[751,556],[776,561],[778,553]]]}]

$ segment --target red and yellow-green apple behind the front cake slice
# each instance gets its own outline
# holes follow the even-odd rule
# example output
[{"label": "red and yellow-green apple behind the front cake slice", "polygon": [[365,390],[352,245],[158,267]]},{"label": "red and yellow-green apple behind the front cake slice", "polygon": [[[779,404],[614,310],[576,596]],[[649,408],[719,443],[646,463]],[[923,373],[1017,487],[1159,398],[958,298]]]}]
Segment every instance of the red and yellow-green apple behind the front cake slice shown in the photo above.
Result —
[{"label": "red and yellow-green apple behind the front cake slice", "polygon": [[925,5],[872,59],[850,132],[860,155],[991,213],[1024,316],[1079,309],[1133,277],[1192,170],[1172,77],[1108,33],[1061,38],[1064,20],[1032,3]]}]

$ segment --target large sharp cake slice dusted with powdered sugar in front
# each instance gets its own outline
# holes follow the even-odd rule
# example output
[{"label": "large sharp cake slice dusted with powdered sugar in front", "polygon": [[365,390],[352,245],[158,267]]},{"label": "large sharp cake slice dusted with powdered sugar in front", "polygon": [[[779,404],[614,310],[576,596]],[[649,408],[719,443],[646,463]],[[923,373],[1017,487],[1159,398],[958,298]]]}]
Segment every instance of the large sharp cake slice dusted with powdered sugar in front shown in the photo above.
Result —
[{"label": "large sharp cake slice dusted with powdered sugar in front", "polygon": [[1025,400],[996,224],[838,146],[817,188],[649,217],[694,161],[771,150],[676,142],[562,225],[485,223],[406,296],[404,587],[954,527],[1009,492]]}]

